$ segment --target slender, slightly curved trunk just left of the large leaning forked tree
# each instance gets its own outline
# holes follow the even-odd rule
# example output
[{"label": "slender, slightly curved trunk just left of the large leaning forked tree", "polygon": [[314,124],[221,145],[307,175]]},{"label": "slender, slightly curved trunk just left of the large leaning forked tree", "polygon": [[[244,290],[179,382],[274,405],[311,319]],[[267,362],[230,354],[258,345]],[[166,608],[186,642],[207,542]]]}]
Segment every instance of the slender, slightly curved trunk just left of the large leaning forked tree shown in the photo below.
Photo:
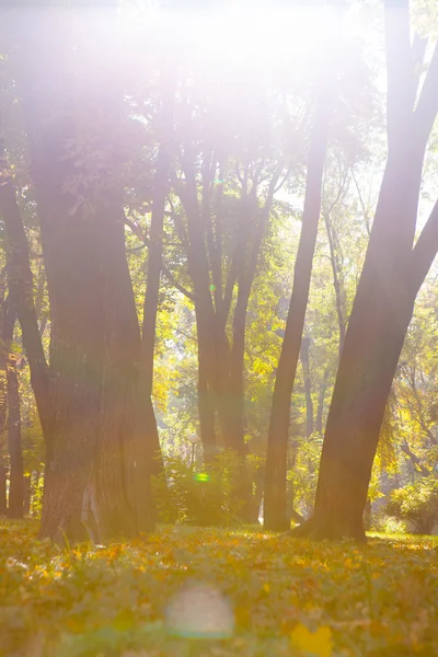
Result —
[{"label": "slender, slightly curved trunk just left of the large leaning forked tree", "polygon": [[300,355],[301,335],[304,326],[321,210],[327,118],[326,100],[321,97],[309,152],[302,228],[295,264],[292,296],[275,379],[269,420],[265,471],[264,526],[266,529],[275,531],[284,530],[289,525],[287,518],[286,463],[290,397]]}]

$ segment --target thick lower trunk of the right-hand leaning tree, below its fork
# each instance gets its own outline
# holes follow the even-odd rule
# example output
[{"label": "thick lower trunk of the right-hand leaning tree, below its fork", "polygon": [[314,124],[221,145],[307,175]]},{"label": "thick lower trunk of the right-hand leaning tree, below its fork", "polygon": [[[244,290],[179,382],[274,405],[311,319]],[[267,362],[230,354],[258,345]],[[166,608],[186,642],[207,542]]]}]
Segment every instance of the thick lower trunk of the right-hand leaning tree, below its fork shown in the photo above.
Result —
[{"label": "thick lower trunk of the right-hand leaning tree, below its fork", "polygon": [[397,269],[392,277],[389,272],[381,277],[374,266],[364,269],[325,431],[316,538],[365,538],[362,515],[380,426],[414,307]]}]

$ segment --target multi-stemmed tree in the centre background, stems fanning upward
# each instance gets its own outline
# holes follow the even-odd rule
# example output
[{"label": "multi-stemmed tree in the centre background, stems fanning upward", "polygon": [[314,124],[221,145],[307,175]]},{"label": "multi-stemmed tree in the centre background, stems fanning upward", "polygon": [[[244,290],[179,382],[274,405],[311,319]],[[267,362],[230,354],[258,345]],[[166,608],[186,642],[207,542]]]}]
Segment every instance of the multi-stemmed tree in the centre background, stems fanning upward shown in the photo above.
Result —
[{"label": "multi-stemmed tree in the centre background, stems fanning upward", "polygon": [[[208,74],[212,77],[210,70]],[[224,89],[220,77],[208,81],[212,89],[207,87],[207,92],[203,82],[201,76],[195,78],[196,94],[188,92],[180,110],[181,157],[173,176],[175,232],[193,288],[205,453],[209,459],[222,446],[244,459],[247,307],[274,197],[291,172],[292,155],[286,157],[278,145],[292,140],[298,129],[290,128],[290,116],[281,115],[286,103],[278,101],[269,112],[260,80],[243,81],[241,70],[233,71]],[[238,84],[245,84],[245,103],[219,114],[218,91],[231,94]]]}]

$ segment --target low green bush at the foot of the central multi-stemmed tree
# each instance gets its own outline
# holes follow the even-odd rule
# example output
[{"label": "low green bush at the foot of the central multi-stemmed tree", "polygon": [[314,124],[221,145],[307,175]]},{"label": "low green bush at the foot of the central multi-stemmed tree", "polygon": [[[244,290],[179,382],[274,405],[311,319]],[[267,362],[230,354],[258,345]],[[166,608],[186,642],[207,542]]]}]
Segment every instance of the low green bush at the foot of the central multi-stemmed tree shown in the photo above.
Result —
[{"label": "low green bush at the foot of the central multi-stemmed tree", "polygon": [[192,466],[180,456],[168,457],[164,474],[152,481],[158,519],[201,527],[234,525],[241,506],[238,476],[239,461],[231,451],[220,452],[208,465]]}]

